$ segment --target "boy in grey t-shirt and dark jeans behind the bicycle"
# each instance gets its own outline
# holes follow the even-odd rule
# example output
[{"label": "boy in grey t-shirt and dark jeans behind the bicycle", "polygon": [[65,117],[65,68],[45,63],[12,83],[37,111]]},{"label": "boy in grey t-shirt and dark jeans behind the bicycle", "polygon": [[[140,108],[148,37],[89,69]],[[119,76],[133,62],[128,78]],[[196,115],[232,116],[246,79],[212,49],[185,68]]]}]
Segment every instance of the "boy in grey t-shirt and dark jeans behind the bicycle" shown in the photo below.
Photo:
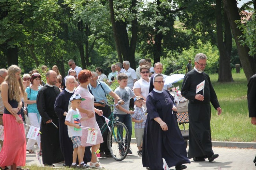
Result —
[{"label": "boy in grey t-shirt and dark jeans behind the bicycle", "polygon": [[[128,129],[129,132],[129,138],[131,139],[131,133],[132,133],[132,124],[131,124],[131,115],[134,112],[129,109],[130,105],[130,98],[134,98],[135,94],[133,91],[127,86],[128,76],[124,73],[120,73],[117,76],[117,81],[119,83],[119,87],[116,88],[114,91],[125,103],[120,106],[116,106],[114,109],[115,117],[118,117],[118,121],[125,124],[125,126]],[[119,99],[120,100],[120,99]],[[118,100],[115,99],[115,104],[118,103]],[[125,140],[125,143],[127,143],[127,139]],[[127,149],[127,148],[126,148]],[[128,154],[132,155],[131,150],[128,148]],[[124,155],[124,151],[120,149],[120,155]]]}]

